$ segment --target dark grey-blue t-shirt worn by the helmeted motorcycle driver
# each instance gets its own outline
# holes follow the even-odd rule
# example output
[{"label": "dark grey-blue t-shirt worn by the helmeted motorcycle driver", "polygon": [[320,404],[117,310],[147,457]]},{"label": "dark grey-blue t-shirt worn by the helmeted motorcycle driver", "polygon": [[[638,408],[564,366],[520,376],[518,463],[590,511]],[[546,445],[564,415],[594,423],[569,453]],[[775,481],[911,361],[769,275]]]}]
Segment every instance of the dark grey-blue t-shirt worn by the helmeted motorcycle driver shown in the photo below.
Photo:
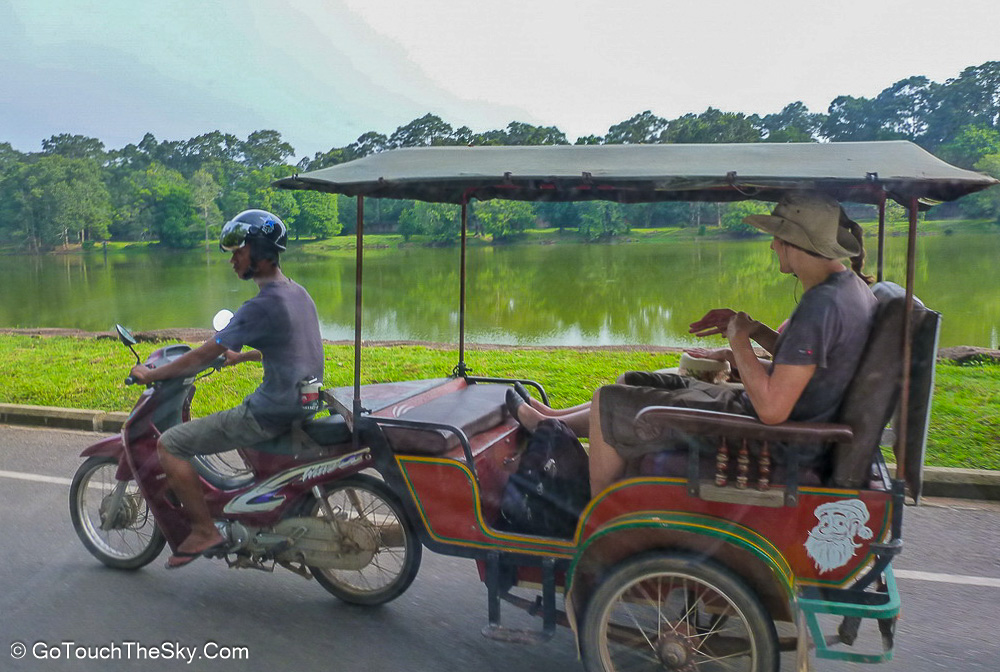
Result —
[{"label": "dark grey-blue t-shirt worn by the helmeted motorcycle driver", "polygon": [[283,432],[309,415],[302,410],[298,383],[323,379],[323,340],[316,304],[300,285],[291,280],[264,285],[215,341],[236,352],[249,346],[263,354],[264,380],[246,398],[262,428]]}]

